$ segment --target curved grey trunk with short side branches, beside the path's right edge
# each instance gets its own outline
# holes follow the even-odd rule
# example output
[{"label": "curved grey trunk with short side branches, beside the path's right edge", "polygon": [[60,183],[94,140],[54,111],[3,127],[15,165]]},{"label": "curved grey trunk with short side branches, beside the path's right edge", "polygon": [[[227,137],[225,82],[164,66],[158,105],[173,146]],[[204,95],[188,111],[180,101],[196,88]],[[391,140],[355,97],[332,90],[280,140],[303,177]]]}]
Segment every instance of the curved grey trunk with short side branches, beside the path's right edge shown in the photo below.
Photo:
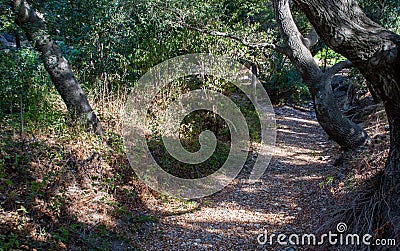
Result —
[{"label": "curved grey trunk with short side branches, beside the path's right edge", "polygon": [[319,124],[343,148],[354,149],[364,145],[369,139],[368,134],[339,110],[331,86],[333,75],[351,63],[340,62],[323,72],[310,52],[310,47],[318,41],[317,34],[312,31],[307,38],[302,36],[293,20],[288,0],[275,0],[274,8],[285,40],[284,52],[311,92]]}]

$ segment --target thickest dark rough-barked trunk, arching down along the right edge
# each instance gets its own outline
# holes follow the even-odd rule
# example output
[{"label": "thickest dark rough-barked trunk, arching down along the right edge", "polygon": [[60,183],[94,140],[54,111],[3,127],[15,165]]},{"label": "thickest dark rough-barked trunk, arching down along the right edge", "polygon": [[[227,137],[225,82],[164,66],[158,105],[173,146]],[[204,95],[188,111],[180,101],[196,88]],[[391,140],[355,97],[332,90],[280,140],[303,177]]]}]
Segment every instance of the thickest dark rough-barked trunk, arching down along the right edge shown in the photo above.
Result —
[{"label": "thickest dark rough-barked trunk, arching down along the right edge", "polygon": [[381,185],[384,217],[400,232],[400,35],[371,21],[355,0],[295,0],[325,43],[347,57],[382,100],[390,151]]}]

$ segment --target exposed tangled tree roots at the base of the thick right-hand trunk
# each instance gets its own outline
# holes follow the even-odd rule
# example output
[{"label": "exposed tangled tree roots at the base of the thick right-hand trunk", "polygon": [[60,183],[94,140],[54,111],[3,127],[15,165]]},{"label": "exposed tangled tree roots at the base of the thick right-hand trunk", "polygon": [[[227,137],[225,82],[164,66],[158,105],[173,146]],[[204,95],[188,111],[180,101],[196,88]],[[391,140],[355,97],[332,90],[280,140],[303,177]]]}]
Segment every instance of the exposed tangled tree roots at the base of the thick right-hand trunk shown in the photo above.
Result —
[{"label": "exposed tangled tree roots at the base of the thick right-hand trunk", "polygon": [[[347,195],[347,202],[327,215],[325,223],[317,230],[319,236],[329,231],[338,233],[337,225],[345,223],[347,230],[342,234],[358,234],[360,245],[330,247],[329,243],[325,243],[317,250],[397,250],[400,233],[394,226],[399,222],[398,219],[390,219],[388,215],[390,211],[387,203],[388,191],[383,191],[382,181],[383,171],[380,171],[367,180],[358,192]],[[362,243],[362,237],[366,234],[373,236],[371,243],[375,243],[376,240],[395,239],[397,245],[396,247],[365,245]]]}]

